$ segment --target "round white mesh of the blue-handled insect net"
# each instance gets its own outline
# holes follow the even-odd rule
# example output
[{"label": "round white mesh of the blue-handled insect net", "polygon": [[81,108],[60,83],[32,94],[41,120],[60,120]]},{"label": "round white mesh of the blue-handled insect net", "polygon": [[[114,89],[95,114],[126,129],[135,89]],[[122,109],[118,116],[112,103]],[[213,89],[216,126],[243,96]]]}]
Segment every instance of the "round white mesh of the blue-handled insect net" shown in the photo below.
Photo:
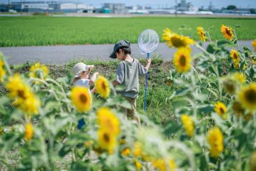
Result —
[{"label": "round white mesh of the blue-handled insect net", "polygon": [[139,35],[138,46],[139,49],[144,53],[154,52],[159,44],[158,34],[151,29],[144,30],[141,35]]}]

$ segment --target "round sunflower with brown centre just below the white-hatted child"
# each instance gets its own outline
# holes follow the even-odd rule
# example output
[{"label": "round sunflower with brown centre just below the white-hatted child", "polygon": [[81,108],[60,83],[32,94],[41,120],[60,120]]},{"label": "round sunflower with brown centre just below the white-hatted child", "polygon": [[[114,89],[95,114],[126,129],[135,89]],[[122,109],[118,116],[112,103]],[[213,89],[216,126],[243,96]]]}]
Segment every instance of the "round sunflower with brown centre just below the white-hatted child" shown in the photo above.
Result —
[{"label": "round sunflower with brown centre just below the white-hatted child", "polygon": [[92,97],[89,89],[86,87],[76,86],[71,90],[71,100],[77,111],[86,112],[92,106]]}]

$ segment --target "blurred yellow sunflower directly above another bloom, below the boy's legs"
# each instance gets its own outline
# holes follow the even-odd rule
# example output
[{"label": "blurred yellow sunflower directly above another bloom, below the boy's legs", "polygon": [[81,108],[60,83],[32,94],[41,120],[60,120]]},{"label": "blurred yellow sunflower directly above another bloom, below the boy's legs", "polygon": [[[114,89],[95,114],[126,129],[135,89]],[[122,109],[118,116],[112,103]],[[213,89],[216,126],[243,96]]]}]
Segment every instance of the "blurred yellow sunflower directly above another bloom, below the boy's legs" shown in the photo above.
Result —
[{"label": "blurred yellow sunflower directly above another bloom, below the boy's legs", "polygon": [[119,119],[115,114],[108,108],[102,107],[97,111],[97,120],[100,128],[111,132],[114,135],[120,132]]}]

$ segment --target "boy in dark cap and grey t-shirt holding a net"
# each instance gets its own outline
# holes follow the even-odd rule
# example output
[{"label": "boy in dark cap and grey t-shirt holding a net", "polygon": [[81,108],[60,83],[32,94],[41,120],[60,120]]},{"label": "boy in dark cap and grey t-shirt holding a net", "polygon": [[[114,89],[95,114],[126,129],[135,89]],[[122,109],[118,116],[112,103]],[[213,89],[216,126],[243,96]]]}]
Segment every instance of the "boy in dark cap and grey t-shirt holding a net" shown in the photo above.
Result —
[{"label": "boy in dark cap and grey t-shirt holding a net", "polygon": [[147,65],[144,67],[137,60],[131,57],[130,42],[121,40],[115,43],[114,50],[109,56],[113,59],[121,60],[117,67],[116,79],[113,85],[122,85],[125,87],[122,91],[118,91],[127,99],[133,106],[133,109],[126,109],[126,114],[137,120],[139,126],[141,126],[141,120],[135,116],[136,113],[136,99],[138,98],[139,91],[139,77],[147,73],[150,68],[151,59],[147,59]]}]

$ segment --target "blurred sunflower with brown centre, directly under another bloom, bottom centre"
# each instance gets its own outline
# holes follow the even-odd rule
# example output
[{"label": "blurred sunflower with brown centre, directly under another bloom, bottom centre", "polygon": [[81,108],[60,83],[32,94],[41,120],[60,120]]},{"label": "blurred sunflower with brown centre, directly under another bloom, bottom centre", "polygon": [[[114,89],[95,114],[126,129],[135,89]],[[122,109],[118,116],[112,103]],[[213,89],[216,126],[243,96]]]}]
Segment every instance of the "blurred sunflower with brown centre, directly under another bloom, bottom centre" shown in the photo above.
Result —
[{"label": "blurred sunflower with brown centre, directly under another bloom, bottom centre", "polygon": [[100,129],[98,130],[98,143],[101,149],[112,154],[114,152],[114,148],[117,146],[117,137],[110,131]]}]

